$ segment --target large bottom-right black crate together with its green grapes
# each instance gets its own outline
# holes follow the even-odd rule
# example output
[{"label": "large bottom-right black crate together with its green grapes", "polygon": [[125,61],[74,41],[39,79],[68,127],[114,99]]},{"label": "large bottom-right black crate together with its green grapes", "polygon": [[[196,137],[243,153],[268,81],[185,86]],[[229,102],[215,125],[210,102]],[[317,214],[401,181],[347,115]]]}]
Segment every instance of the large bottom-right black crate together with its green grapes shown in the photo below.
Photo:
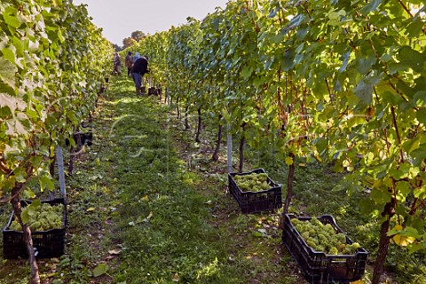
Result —
[{"label": "large bottom-right black crate together with its green grapes", "polygon": [[368,251],[343,233],[331,215],[285,214],[282,242],[309,283],[350,283],[364,274]]}]

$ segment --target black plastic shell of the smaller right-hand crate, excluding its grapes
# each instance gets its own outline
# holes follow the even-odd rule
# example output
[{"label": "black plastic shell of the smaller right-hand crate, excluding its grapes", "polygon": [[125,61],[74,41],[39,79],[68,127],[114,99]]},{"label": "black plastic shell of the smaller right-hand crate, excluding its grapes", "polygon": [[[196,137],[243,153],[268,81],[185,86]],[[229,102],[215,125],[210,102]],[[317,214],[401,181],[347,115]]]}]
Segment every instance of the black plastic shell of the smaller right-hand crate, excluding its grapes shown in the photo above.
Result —
[{"label": "black plastic shell of the smaller right-hand crate, excluding its grapes", "polygon": [[279,209],[282,206],[281,185],[275,183],[271,177],[267,179],[271,188],[260,192],[242,191],[233,178],[235,176],[245,176],[251,173],[260,174],[264,172],[264,169],[256,169],[243,173],[228,173],[229,191],[233,194],[233,198],[238,202],[238,205],[240,205],[242,213],[256,213]]}]

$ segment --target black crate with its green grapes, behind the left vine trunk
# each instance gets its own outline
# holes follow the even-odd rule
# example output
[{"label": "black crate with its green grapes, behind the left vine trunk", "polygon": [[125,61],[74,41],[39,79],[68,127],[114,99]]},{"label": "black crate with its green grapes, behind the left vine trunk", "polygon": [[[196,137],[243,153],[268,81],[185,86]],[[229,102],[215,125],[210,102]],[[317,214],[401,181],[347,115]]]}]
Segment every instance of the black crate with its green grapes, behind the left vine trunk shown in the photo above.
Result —
[{"label": "black crate with its green grapes, behind the left vine trunk", "polygon": [[[20,201],[22,209],[32,201]],[[67,204],[64,198],[42,201],[28,214],[33,245],[37,258],[59,257],[64,254],[67,226]],[[4,258],[28,258],[20,224],[12,212],[3,230]]]}]

